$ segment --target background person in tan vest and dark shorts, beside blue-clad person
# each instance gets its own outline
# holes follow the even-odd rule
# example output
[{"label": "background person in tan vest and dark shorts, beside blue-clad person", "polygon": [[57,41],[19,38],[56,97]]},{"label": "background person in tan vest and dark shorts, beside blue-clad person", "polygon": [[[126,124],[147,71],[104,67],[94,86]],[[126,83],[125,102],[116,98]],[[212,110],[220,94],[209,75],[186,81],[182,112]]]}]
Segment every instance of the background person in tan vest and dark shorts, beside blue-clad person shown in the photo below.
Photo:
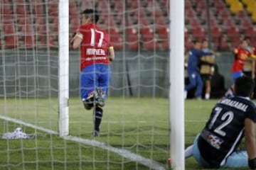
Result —
[{"label": "background person in tan vest and dark shorts, beside blue-clad person", "polygon": [[[202,41],[202,50],[203,52],[211,52],[210,49],[208,48],[208,40],[206,39]],[[215,64],[214,55],[203,55],[203,57],[201,57],[200,73],[206,86],[206,94],[205,94],[206,100],[210,98],[210,88],[211,88],[210,81],[214,74],[214,64]]]}]

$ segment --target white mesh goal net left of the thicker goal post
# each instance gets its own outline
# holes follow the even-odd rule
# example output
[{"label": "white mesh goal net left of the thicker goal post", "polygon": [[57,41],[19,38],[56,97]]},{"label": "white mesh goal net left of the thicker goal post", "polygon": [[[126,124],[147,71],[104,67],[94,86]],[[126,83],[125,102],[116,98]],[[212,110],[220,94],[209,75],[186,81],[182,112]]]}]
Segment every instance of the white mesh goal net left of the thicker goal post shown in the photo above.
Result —
[{"label": "white mesh goal net left of the thicker goal post", "polygon": [[[67,1],[66,1],[67,2]],[[61,47],[57,0],[0,0],[0,169],[165,169],[169,158],[169,1],[70,0],[69,35],[100,11],[115,50],[100,137],[80,99],[80,51]],[[60,49],[69,48],[69,89]],[[65,54],[64,54],[65,55]],[[60,94],[69,135],[60,137]],[[13,132],[13,133],[12,133]]]}]

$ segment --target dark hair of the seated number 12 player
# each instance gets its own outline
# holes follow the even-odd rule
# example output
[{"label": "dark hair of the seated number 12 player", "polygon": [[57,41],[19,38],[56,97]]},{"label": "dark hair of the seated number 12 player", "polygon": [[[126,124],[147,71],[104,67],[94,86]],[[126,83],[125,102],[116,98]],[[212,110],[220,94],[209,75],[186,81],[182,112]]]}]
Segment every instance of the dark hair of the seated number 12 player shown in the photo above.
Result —
[{"label": "dark hair of the seated number 12 player", "polygon": [[242,97],[250,97],[254,91],[255,82],[251,77],[242,76],[235,80],[235,95]]}]

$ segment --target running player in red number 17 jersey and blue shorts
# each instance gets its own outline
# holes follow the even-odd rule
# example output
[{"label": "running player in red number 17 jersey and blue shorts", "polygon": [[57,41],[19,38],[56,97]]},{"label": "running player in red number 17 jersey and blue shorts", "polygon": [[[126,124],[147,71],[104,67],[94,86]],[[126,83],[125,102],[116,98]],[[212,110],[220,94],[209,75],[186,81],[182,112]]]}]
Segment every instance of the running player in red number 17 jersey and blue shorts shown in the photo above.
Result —
[{"label": "running player in red number 17 jersey and blue shorts", "polygon": [[110,61],[114,60],[114,47],[108,33],[96,23],[96,10],[82,12],[82,25],[78,28],[71,44],[80,47],[80,96],[85,109],[93,109],[94,130],[92,135],[100,135],[105,98],[110,83]]}]

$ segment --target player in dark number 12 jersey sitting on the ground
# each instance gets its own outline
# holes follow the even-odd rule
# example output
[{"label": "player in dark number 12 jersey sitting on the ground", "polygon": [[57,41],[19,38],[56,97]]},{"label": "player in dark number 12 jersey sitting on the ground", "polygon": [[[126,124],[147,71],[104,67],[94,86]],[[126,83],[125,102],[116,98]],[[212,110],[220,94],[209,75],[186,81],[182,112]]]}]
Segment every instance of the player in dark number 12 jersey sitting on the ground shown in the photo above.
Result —
[{"label": "player in dark number 12 jersey sitting on the ground", "polygon": [[[256,107],[250,101],[255,83],[250,77],[235,81],[235,96],[215,104],[205,127],[185,150],[207,169],[256,169]],[[246,150],[238,147],[245,137]]]}]

